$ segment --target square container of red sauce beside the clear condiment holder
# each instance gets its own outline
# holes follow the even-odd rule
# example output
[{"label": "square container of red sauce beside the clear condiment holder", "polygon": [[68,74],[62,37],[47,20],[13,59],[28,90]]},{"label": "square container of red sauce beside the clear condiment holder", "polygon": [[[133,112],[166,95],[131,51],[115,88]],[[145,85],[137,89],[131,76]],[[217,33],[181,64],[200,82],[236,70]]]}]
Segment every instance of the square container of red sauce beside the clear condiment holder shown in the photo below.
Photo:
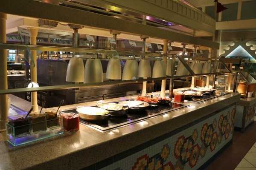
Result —
[{"label": "square container of red sauce beside the clear condiment holder", "polygon": [[63,117],[63,128],[66,131],[79,130],[79,115],[75,113],[67,113],[61,115]]}]

